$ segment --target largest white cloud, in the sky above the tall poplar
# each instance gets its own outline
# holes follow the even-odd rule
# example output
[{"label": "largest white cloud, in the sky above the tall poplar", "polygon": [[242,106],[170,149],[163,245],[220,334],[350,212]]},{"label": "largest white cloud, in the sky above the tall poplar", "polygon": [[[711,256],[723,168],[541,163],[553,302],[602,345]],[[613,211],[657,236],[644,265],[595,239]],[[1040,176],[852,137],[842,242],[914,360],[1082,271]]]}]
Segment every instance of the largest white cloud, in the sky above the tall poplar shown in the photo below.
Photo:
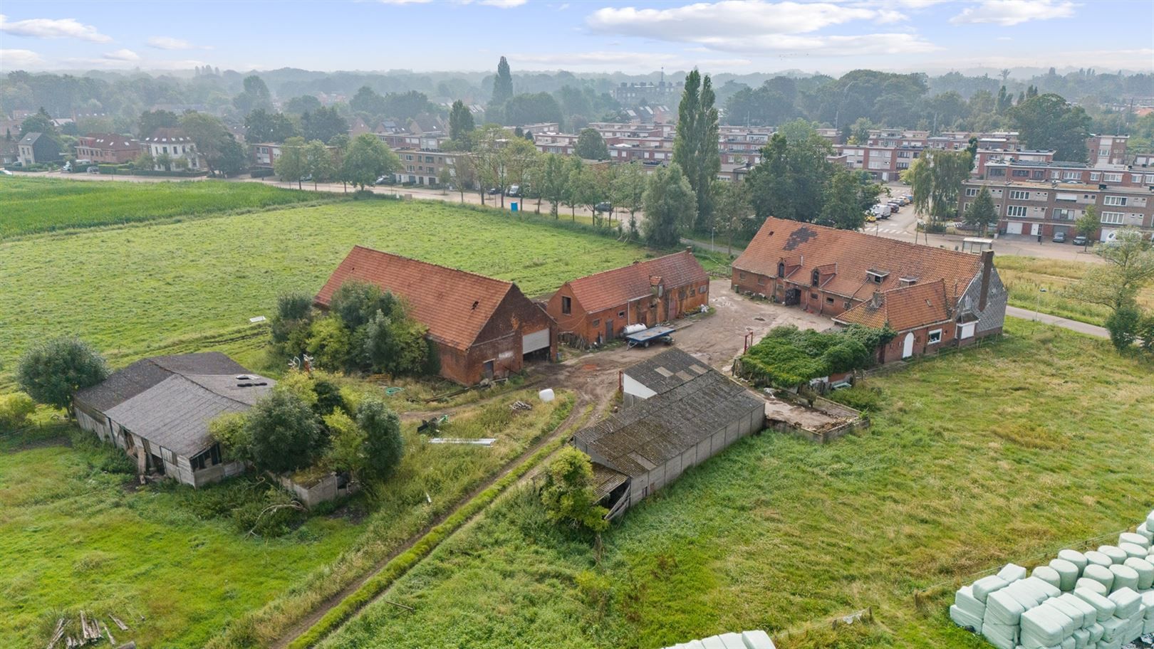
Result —
[{"label": "largest white cloud, in the sky above the tall poplar", "polygon": [[832,2],[721,0],[669,9],[605,7],[590,14],[586,22],[594,31],[699,43],[710,38],[808,33],[852,21],[893,22],[897,17],[892,9]]}]

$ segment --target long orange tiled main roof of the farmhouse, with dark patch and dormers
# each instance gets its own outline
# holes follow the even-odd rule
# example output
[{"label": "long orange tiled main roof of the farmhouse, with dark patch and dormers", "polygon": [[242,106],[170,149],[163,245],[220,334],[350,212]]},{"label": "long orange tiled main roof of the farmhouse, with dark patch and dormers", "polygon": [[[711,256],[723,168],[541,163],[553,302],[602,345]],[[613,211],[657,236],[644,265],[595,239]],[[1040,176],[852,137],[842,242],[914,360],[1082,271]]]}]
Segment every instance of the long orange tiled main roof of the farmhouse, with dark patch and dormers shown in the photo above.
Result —
[{"label": "long orange tiled main roof of the farmhouse, with dark patch and dormers", "polygon": [[[778,262],[786,263],[786,279],[803,287],[811,285],[814,270],[820,269],[823,290],[855,300],[899,288],[901,278],[919,284],[944,280],[947,295],[956,299],[982,271],[980,255],[775,218],[765,219],[733,267],[777,277]],[[832,276],[825,274],[830,264],[837,264]],[[869,271],[887,274],[878,284]]]}]

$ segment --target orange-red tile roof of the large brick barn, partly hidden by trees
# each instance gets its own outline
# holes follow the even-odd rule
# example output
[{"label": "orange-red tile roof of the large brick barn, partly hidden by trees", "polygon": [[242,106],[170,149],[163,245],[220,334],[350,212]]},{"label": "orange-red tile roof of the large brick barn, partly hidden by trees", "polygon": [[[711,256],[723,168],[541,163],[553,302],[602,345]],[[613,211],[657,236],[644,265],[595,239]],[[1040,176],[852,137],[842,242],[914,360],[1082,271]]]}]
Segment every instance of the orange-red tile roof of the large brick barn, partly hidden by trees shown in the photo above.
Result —
[{"label": "orange-red tile roof of the large brick barn, partly hidden by trees", "polygon": [[512,282],[449,269],[357,246],[329,277],[316,303],[328,307],[350,279],[368,281],[400,296],[409,314],[428,327],[429,337],[456,349],[469,349]]}]

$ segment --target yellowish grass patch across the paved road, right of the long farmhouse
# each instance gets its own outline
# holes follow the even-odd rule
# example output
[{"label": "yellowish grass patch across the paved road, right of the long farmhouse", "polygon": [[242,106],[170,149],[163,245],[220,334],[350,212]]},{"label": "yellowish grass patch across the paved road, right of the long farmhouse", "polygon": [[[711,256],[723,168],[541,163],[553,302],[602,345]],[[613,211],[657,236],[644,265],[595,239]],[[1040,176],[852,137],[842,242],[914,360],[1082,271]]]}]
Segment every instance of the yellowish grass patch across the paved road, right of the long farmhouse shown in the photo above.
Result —
[{"label": "yellowish grass patch across the paved road, right of the long farmhouse", "polygon": [[[1065,289],[1094,266],[1092,262],[1067,262],[1040,257],[995,257],[994,264],[1010,292],[1010,304],[1022,309],[1103,326],[1110,310],[1065,295]],[[1046,288],[1042,293],[1040,288]],[[1138,295],[1144,309],[1154,309],[1154,286]]]}]

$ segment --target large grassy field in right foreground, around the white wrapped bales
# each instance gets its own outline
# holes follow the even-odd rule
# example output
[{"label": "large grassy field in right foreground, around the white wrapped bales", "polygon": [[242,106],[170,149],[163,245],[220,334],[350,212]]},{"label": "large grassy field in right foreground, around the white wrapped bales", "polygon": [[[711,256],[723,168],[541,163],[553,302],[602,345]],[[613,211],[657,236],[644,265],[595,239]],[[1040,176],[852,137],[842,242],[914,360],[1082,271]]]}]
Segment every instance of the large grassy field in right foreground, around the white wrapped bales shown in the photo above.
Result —
[{"label": "large grassy field in right foreground, around the white wrapped bales", "polygon": [[[951,582],[1154,507],[1154,367],[1007,330],[869,379],[883,406],[860,436],[735,444],[614,523],[600,567],[510,495],[387,591],[415,612],[373,604],[323,647],[653,649],[749,628],[782,649],[988,647],[949,621]],[[830,631],[865,608],[875,624]]]}]

